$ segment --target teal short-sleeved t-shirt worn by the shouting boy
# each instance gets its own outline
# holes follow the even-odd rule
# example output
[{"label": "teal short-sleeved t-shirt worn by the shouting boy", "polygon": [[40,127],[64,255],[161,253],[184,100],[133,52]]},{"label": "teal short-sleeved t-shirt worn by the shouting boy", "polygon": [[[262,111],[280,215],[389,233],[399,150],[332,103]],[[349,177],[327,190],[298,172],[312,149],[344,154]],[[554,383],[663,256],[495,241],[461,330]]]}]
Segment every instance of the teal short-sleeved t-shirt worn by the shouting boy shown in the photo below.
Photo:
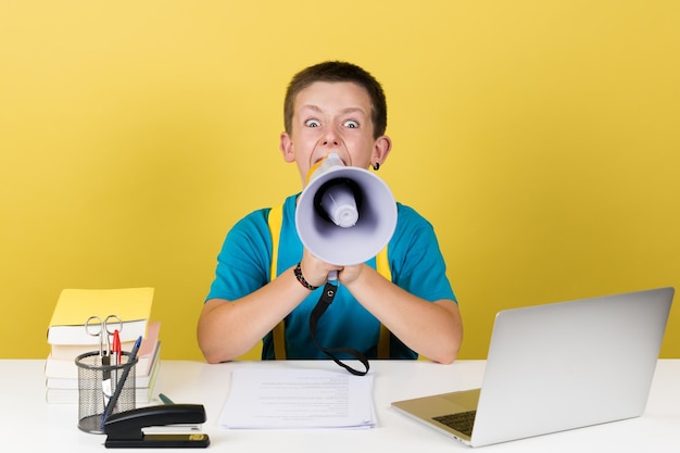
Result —
[{"label": "teal short-sleeved t-shirt worn by the shouting boy", "polygon": [[[303,246],[295,229],[295,197],[287,198],[284,204],[278,274],[292,272],[290,267],[302,259]],[[412,207],[401,203],[396,203],[396,227],[388,244],[392,281],[428,301],[455,300],[432,226]],[[237,300],[269,281],[272,238],[267,224],[268,214],[269,209],[254,211],[227,234],[217,256],[215,279],[205,300]],[[367,264],[375,268],[375,257]],[[288,358],[328,358],[314,345],[308,327],[310,313],[318,302],[322,290],[323,288],[312,291],[286,317]],[[379,320],[342,285],[316,328],[317,341],[325,348],[350,348],[368,358],[376,357],[379,334]],[[390,356],[416,358],[417,354],[392,336]],[[274,358],[270,332],[263,339],[262,358]]]}]

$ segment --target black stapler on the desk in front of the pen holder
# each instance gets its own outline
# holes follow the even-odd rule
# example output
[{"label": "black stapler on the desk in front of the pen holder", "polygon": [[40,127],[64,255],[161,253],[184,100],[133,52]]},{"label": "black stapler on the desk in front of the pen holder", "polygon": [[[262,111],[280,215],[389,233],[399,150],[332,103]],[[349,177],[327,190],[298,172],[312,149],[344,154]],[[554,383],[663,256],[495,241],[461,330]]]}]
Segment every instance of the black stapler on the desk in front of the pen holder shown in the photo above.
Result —
[{"label": "black stapler on the desk in front of the pen holder", "polygon": [[202,424],[205,407],[202,404],[163,404],[139,407],[111,415],[104,423],[108,449],[139,448],[198,448],[210,445],[203,433],[144,433],[142,428],[177,424]]}]

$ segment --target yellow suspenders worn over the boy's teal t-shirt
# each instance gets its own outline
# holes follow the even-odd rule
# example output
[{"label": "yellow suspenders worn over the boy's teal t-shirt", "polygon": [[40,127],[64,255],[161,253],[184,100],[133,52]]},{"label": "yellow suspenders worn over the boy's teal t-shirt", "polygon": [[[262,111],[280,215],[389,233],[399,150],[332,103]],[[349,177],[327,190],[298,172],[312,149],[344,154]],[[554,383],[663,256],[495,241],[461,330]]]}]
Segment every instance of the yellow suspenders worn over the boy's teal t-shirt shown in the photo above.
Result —
[{"label": "yellow suspenders worn over the boy's teal t-shirt", "polygon": [[[272,264],[269,267],[269,280],[276,278],[277,261],[278,261],[278,243],[281,234],[281,225],[284,224],[284,206],[278,205],[269,211],[269,234],[272,235]],[[390,263],[387,257],[387,246],[376,256],[376,270],[378,274],[392,281],[392,273],[390,272]],[[286,325],[284,320],[274,327],[274,357],[276,360],[286,360]],[[378,358],[390,357],[390,331],[380,324],[380,337],[378,339]]]}]

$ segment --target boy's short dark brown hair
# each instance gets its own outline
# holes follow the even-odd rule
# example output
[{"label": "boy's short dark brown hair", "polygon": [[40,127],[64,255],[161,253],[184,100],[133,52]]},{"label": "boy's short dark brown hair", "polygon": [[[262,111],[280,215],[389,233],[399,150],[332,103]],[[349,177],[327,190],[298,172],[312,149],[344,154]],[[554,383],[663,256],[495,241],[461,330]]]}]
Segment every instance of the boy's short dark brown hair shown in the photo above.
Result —
[{"label": "boy's short dark brown hair", "polygon": [[284,124],[288,134],[292,133],[295,97],[300,91],[315,81],[351,81],[368,92],[372,103],[372,121],[374,138],[385,135],[387,129],[387,100],[382,86],[376,78],[362,67],[342,61],[327,61],[306,67],[295,74],[286,90],[284,101]]}]

